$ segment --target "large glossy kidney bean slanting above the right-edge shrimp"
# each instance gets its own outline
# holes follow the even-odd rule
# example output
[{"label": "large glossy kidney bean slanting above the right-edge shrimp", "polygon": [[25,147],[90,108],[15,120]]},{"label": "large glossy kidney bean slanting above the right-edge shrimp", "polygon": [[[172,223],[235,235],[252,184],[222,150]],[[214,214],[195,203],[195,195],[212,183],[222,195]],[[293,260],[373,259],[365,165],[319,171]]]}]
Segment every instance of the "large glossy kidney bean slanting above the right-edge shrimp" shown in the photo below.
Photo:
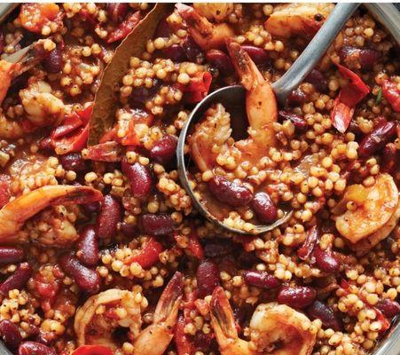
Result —
[{"label": "large glossy kidney bean slanting above the right-edge shrimp", "polygon": [[396,122],[382,122],[371,133],[363,138],[358,147],[358,156],[366,158],[385,146],[396,136]]}]

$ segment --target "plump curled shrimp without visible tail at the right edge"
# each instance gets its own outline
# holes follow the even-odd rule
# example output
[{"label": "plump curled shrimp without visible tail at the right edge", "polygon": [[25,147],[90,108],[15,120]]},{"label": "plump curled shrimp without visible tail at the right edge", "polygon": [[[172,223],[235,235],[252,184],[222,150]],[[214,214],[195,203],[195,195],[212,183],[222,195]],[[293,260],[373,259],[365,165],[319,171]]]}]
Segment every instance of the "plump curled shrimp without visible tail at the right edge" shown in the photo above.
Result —
[{"label": "plump curled shrimp without visible tail at the right edge", "polygon": [[[398,190],[393,177],[388,174],[380,174],[375,178],[375,184],[372,186],[365,188],[362,185],[350,185],[348,192],[357,187],[359,190],[357,194],[362,193],[365,198],[358,201],[359,205],[356,209],[346,210],[336,217],[337,230],[353,245],[357,245],[357,242],[369,238],[369,236],[373,237],[373,241],[386,238],[396,226],[399,217]],[[352,194],[356,195],[356,193]],[[347,197],[345,193],[346,201],[351,198]],[[386,226],[385,229],[381,230],[384,226]]]}]

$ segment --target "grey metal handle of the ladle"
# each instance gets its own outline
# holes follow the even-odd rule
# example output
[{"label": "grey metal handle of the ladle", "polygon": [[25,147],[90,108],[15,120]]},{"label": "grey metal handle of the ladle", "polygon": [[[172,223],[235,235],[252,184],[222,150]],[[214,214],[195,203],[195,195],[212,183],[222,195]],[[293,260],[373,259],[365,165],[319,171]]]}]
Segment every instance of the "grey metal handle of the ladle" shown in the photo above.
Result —
[{"label": "grey metal handle of the ladle", "polygon": [[298,59],[294,61],[292,67],[275,83],[272,84],[278,103],[285,106],[286,99],[290,92],[294,91],[302,83],[304,78],[310,74],[329,48],[334,38],[339,34],[341,28],[353,12],[356,11],[359,4],[356,3],[338,3],[333,11],[325,20],[324,25],[312,38],[307,48],[302,51]]}]

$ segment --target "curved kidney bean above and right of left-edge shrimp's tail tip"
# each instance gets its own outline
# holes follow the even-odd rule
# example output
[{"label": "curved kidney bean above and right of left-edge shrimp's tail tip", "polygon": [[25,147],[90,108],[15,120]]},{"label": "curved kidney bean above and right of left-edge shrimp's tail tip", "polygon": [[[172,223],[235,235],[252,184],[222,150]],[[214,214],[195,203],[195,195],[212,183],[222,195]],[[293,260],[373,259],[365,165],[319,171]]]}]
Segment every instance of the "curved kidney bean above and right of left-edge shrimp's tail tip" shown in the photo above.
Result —
[{"label": "curved kidney bean above and right of left-edge shrimp's tail tip", "polygon": [[123,174],[129,179],[130,192],[134,197],[140,199],[152,191],[152,176],[145,165],[139,162],[129,164],[122,160],[121,167]]}]

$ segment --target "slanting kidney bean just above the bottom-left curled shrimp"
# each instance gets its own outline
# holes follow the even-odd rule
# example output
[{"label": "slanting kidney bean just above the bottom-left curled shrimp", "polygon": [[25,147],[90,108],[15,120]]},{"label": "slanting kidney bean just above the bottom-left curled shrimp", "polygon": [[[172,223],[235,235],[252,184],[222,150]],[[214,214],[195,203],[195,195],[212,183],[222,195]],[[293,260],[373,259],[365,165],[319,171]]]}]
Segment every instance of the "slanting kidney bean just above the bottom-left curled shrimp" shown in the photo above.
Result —
[{"label": "slanting kidney bean just above the bottom-left curled shrimp", "polygon": [[71,276],[83,291],[95,294],[100,288],[100,275],[96,270],[82,265],[79,260],[71,254],[65,254],[59,258],[59,266],[63,272]]}]

